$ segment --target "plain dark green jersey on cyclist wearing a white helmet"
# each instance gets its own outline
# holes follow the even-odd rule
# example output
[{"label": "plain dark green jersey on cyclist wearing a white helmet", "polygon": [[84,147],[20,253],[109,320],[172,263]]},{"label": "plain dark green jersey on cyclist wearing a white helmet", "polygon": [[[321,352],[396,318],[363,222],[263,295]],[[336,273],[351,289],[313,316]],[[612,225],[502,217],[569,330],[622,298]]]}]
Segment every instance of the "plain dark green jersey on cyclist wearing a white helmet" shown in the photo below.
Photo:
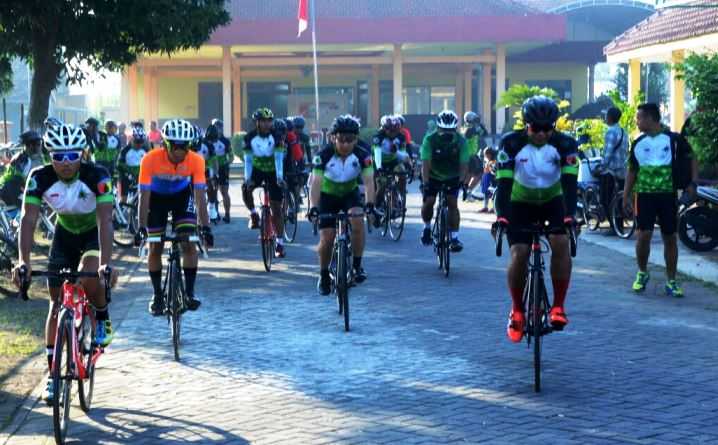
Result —
[{"label": "plain dark green jersey on cyclist wearing a white helmet", "polygon": [[[448,181],[461,177],[461,165],[469,163],[466,139],[460,134],[438,131],[429,133],[421,144],[421,160],[431,162],[429,177]],[[427,180],[429,178],[426,178]]]}]

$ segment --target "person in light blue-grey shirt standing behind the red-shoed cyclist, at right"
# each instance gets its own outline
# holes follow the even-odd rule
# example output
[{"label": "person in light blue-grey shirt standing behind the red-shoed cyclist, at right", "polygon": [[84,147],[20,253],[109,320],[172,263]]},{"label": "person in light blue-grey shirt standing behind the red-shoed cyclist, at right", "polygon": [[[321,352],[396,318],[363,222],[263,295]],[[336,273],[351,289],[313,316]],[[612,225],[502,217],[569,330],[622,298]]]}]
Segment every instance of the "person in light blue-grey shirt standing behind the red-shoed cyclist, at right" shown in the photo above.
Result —
[{"label": "person in light blue-grey shirt standing behind the red-shoed cyclist, at right", "polygon": [[[606,125],[608,130],[604,135],[603,159],[601,161],[601,175],[599,177],[599,193],[601,205],[608,213],[611,200],[616,193],[615,186],[618,183],[619,190],[626,180],[626,157],[628,156],[628,134],[621,128],[621,110],[611,107],[606,111]],[[608,218],[609,224],[613,221]],[[614,233],[613,227],[608,233]]]}]

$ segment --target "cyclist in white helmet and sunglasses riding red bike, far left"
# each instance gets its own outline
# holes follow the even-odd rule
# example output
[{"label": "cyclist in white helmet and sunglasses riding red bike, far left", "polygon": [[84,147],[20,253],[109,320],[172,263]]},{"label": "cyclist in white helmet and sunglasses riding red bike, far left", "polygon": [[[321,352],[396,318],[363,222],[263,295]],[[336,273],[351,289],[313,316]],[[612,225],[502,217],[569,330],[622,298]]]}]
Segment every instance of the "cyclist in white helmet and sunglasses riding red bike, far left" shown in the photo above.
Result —
[{"label": "cyclist in white helmet and sunglasses riding red bike, far left", "polygon": [[[25,186],[19,262],[13,269],[13,280],[18,286],[21,285],[21,268],[26,268],[26,276],[30,277],[30,255],[43,201],[58,215],[48,270],[79,269],[96,271],[102,276],[112,260],[113,196],[107,170],[96,164],[81,162],[87,140],[79,127],[52,126],[45,133],[44,143],[50,150],[52,162],[32,170]],[[95,308],[95,341],[103,347],[107,346],[112,341],[113,331],[104,286],[100,285],[99,278],[85,278],[80,282]],[[57,278],[48,279],[50,307],[45,323],[48,367],[52,366],[61,285]],[[54,396],[52,379],[48,378],[43,398],[51,403]]]}]

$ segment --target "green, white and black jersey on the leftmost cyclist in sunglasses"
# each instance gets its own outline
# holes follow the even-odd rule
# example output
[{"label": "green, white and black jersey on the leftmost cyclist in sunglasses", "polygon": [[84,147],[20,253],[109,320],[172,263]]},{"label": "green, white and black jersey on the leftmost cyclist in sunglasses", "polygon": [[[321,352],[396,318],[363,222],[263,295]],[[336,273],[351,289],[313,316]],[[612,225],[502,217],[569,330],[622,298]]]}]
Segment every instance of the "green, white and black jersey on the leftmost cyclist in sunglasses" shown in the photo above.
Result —
[{"label": "green, white and black jersey on the leftmost cyclist in sunglasses", "polygon": [[25,185],[25,205],[46,202],[57,213],[57,224],[74,234],[95,228],[97,205],[112,205],[113,200],[109,173],[92,163],[83,162],[70,181],[60,179],[52,165],[38,167]]}]

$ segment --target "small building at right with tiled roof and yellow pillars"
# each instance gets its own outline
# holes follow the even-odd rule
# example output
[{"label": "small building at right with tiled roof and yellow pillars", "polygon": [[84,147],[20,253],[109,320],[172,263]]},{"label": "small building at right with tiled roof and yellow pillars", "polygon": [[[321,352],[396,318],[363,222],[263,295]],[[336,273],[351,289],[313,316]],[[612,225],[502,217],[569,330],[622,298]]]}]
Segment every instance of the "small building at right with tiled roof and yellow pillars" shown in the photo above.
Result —
[{"label": "small building at right with tiled roof and yellow pillars", "polygon": [[[683,61],[688,53],[718,51],[718,5],[710,0],[663,0],[660,9],[616,37],[604,49],[608,62],[628,64],[628,95],[641,90],[641,65]],[[685,84],[674,68],[670,76],[670,122],[685,121]]]}]

